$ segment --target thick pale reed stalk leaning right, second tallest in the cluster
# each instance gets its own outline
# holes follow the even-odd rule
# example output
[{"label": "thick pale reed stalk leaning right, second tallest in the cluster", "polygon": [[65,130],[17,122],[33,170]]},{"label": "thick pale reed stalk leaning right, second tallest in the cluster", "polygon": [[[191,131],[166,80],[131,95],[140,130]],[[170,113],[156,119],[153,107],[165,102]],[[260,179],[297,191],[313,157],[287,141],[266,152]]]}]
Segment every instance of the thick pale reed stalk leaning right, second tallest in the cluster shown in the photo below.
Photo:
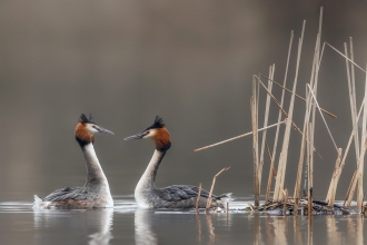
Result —
[{"label": "thick pale reed stalk leaning right, second tallest in the cluster", "polygon": [[[298,70],[299,70],[299,61],[300,61],[301,47],[302,47],[304,33],[305,33],[305,26],[306,26],[306,20],[304,20],[301,38],[299,39],[299,42],[298,42],[296,76],[295,76],[295,81],[294,81],[292,94],[296,94],[296,87],[297,87],[297,80],[298,80]],[[281,148],[281,154],[280,154],[279,164],[278,164],[276,186],[275,186],[275,190],[274,190],[274,199],[275,200],[280,199],[280,193],[281,193],[280,190],[284,187],[287,157],[288,157],[290,126],[291,126],[292,114],[294,114],[294,105],[295,105],[295,95],[291,95],[289,111],[288,111],[288,120],[287,120],[287,125],[286,125],[286,130],[285,130],[285,136],[284,136],[284,141],[282,141],[282,148]]]}]

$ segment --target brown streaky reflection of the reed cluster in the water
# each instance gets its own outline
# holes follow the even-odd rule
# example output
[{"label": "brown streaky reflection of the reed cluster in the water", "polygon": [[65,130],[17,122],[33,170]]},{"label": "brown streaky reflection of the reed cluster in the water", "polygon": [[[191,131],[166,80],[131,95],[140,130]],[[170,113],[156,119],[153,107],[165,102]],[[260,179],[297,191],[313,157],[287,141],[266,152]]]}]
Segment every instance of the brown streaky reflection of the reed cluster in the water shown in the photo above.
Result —
[{"label": "brown streaky reflection of the reed cluster in the water", "polygon": [[248,222],[252,227],[254,244],[313,245],[314,241],[315,244],[329,245],[364,244],[364,217],[360,215],[308,217],[251,214]]}]

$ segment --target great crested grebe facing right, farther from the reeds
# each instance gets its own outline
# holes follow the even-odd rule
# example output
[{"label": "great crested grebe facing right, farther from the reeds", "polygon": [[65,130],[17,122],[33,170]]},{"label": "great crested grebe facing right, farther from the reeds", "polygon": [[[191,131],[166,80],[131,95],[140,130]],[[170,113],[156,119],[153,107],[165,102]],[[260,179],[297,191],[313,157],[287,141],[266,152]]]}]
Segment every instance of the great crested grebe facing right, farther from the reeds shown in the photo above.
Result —
[{"label": "great crested grebe facing right, farther from the reeds", "polygon": [[34,195],[33,208],[97,208],[113,207],[110,187],[97,158],[93,140],[95,134],[111,134],[91,117],[80,116],[76,127],[76,140],[87,160],[87,180],[83,187],[66,187],[57,189],[44,198]]}]

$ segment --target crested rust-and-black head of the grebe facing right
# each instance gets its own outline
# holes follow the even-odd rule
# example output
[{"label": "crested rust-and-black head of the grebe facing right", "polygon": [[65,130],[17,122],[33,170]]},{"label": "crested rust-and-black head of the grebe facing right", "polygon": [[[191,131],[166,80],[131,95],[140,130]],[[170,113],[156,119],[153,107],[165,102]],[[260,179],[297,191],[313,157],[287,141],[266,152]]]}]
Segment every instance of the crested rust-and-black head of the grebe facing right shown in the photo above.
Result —
[{"label": "crested rust-and-black head of the grebe facing right", "polygon": [[112,131],[98,125],[97,121],[93,120],[91,114],[89,117],[82,114],[76,127],[76,139],[79,145],[83,146],[93,143],[96,133],[115,135]]}]

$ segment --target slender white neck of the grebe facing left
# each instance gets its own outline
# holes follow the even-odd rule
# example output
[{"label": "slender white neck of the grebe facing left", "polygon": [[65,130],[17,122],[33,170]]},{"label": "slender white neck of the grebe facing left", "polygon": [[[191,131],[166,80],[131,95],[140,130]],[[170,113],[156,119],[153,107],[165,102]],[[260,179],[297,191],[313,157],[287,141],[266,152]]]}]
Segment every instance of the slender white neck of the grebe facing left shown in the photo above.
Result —
[{"label": "slender white neck of the grebe facing left", "polygon": [[135,198],[139,206],[147,206],[146,196],[156,188],[155,180],[160,161],[166,151],[155,150],[146,171],[142,174],[137,187],[135,188]]}]

